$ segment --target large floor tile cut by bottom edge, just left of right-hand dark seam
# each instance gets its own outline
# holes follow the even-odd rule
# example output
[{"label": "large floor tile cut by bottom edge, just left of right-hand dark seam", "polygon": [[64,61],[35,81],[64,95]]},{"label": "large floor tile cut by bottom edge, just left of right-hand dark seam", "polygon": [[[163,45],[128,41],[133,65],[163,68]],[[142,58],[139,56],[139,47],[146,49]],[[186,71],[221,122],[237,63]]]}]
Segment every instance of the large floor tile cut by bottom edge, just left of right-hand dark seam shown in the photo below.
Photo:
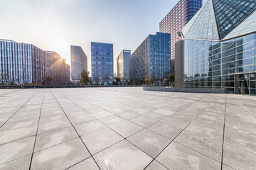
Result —
[{"label": "large floor tile cut by bottom edge, just left of right-hand dark seam", "polygon": [[168,169],[202,169],[219,170],[220,162],[216,162],[209,157],[198,152],[183,147],[176,142],[166,147],[163,152],[156,157],[156,160],[166,166]]}]

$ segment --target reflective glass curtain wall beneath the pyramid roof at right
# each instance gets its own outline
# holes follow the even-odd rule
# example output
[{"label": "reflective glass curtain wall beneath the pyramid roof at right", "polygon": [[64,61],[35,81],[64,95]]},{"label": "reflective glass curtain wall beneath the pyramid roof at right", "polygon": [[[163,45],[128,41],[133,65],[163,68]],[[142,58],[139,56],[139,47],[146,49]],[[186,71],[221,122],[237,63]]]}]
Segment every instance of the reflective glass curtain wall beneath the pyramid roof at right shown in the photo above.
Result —
[{"label": "reflective glass curtain wall beneath the pyramid roof at right", "polygon": [[[255,94],[255,36],[252,33],[222,42],[184,40],[183,86]],[[241,85],[240,81],[245,82]]]}]

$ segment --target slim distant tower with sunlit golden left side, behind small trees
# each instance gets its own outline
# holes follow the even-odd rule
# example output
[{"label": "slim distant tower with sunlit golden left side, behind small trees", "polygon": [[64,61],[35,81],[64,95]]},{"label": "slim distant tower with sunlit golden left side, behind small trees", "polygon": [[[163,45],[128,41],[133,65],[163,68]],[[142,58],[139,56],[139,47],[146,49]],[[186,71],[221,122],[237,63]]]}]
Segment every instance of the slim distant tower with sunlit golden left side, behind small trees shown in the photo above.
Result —
[{"label": "slim distant tower with sunlit golden left side, behind small trees", "polygon": [[131,50],[122,50],[117,57],[117,77],[129,79],[129,57]]}]

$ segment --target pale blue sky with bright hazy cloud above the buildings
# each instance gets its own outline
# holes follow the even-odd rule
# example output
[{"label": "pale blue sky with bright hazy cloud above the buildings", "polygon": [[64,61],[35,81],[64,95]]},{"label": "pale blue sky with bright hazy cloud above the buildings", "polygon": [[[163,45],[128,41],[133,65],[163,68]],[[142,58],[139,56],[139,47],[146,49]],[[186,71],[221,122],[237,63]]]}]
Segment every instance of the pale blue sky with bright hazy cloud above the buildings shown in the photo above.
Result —
[{"label": "pale blue sky with bright hazy cloud above the buildings", "polygon": [[[204,0],[206,1],[206,0]],[[81,46],[91,72],[90,42],[114,45],[114,72],[122,50],[134,50],[178,0],[0,0],[0,39],[55,51],[70,64]]]}]

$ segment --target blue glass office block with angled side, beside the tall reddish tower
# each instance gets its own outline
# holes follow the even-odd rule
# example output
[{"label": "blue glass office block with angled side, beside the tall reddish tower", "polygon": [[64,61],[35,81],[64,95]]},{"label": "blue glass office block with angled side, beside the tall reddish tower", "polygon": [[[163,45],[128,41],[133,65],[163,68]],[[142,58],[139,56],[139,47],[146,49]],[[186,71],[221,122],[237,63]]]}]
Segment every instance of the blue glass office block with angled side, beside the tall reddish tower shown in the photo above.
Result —
[{"label": "blue glass office block with angled side, beside the tall reddish tower", "polygon": [[129,57],[129,78],[164,81],[170,75],[170,34],[149,35]]}]

